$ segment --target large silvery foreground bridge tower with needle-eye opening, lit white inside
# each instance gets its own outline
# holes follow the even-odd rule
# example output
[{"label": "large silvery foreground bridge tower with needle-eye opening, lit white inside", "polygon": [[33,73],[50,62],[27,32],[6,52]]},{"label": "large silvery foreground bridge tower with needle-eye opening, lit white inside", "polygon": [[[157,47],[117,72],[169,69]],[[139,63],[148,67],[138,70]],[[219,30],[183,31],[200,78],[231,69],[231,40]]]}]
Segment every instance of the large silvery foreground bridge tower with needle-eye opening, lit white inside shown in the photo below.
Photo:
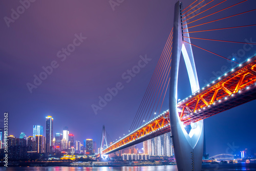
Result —
[{"label": "large silvery foreground bridge tower with needle-eye opening, lit white inside", "polygon": [[[187,28],[186,22],[182,22],[181,15],[182,3],[178,1],[175,4],[174,11],[174,31],[173,31],[173,55],[170,70],[170,91],[169,91],[169,117],[170,129],[174,143],[174,153],[179,171],[199,171],[202,167],[203,156],[203,120],[191,123],[191,131],[186,132],[183,122],[181,122],[177,112],[177,81],[180,63],[180,55],[182,53],[191,87],[191,92],[195,93],[199,90],[199,82],[190,44],[188,33],[183,33]],[[187,29],[184,32],[188,32]],[[185,37],[183,37],[185,36]]]}]

